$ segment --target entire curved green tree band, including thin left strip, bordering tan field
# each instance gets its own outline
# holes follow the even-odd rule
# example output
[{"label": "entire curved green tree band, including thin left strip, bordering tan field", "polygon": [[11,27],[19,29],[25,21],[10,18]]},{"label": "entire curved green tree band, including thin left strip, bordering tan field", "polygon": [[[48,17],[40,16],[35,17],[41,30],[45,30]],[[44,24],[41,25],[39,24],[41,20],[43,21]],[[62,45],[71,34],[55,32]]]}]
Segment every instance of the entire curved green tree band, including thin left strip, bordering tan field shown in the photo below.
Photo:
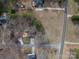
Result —
[{"label": "entire curved green tree band, including thin left strip, bordering tan field", "polygon": [[11,14],[10,17],[16,19],[19,17],[23,17],[27,19],[27,21],[31,22],[31,26],[35,27],[37,31],[44,33],[44,27],[41,22],[33,15],[33,13],[26,13],[26,14]]}]

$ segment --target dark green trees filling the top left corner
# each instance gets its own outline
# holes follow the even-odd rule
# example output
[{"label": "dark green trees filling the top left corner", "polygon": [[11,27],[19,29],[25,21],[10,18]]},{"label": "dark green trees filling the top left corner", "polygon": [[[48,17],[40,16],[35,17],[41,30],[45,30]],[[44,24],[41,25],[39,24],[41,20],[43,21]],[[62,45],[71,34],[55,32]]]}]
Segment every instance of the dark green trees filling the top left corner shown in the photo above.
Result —
[{"label": "dark green trees filling the top left corner", "polygon": [[8,12],[10,14],[15,13],[12,7],[16,2],[17,0],[0,0],[0,14],[3,12]]}]

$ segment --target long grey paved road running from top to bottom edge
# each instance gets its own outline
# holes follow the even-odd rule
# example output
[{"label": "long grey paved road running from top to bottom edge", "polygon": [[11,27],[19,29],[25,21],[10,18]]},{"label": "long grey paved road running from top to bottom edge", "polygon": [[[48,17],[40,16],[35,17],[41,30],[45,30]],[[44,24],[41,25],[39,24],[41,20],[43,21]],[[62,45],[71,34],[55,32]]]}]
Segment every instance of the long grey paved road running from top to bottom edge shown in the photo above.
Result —
[{"label": "long grey paved road running from top to bottom edge", "polygon": [[65,2],[64,2],[64,8],[65,8],[64,25],[63,25],[61,44],[60,44],[59,59],[63,59],[64,41],[65,41],[66,25],[67,25],[67,0],[65,0]]}]

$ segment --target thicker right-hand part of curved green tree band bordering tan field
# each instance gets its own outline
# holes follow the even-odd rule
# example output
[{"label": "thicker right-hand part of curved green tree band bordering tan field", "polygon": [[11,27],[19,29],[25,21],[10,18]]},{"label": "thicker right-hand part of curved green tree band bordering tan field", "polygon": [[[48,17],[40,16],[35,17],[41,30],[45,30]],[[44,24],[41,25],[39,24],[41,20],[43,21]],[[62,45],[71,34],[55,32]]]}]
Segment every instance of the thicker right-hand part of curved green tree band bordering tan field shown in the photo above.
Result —
[{"label": "thicker right-hand part of curved green tree band bordering tan field", "polygon": [[23,16],[31,19],[31,22],[32,22],[31,25],[34,26],[38,31],[40,32],[44,31],[43,25],[38,19],[35,18],[35,16],[32,13],[27,13],[27,14],[24,14]]}]

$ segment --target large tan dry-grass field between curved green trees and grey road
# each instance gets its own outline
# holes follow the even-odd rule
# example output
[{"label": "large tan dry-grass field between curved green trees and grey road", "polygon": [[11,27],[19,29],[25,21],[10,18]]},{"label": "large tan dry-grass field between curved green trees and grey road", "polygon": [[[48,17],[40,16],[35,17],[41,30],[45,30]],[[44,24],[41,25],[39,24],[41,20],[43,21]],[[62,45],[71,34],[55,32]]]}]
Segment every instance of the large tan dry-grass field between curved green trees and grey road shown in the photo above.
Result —
[{"label": "large tan dry-grass field between curved green trees and grey road", "polygon": [[49,43],[58,43],[62,35],[64,11],[35,11],[35,15],[43,24]]}]

